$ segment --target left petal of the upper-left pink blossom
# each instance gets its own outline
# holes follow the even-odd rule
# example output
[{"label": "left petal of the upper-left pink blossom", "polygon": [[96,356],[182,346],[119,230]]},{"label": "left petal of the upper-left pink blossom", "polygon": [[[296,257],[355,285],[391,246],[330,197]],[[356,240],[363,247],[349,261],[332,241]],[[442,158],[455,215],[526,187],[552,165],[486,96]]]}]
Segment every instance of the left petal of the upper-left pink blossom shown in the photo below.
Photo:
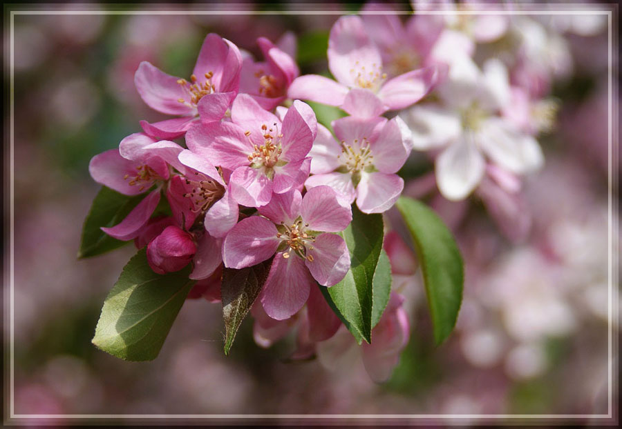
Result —
[{"label": "left petal of the upper-left pink blossom", "polygon": [[142,61],[134,74],[136,90],[147,106],[166,114],[194,116],[196,109],[179,101],[180,99],[188,101],[189,95],[177,83],[178,79],[162,72],[147,61]]}]

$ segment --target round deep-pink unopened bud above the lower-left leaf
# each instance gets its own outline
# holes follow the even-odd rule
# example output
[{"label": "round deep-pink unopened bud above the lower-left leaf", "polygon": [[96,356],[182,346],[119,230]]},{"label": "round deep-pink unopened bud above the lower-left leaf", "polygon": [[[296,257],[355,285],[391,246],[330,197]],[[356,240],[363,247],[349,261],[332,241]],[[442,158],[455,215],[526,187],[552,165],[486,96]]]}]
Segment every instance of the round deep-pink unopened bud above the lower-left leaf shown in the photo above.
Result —
[{"label": "round deep-pink unopened bud above the lower-left leaf", "polygon": [[147,245],[147,261],[158,274],[181,270],[195,253],[192,236],[177,226],[168,226]]}]

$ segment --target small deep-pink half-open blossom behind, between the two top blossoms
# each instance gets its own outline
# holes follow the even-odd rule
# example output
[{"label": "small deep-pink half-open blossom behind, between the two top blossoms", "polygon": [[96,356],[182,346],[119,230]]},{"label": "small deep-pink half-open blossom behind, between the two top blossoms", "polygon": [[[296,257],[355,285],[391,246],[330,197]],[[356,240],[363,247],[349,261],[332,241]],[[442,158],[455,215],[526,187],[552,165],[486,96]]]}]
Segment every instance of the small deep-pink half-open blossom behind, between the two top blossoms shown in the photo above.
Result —
[{"label": "small deep-pink half-open blossom behind, between the two top blossoms", "polygon": [[240,91],[250,94],[266,110],[278,106],[287,96],[290,83],[299,76],[296,61],[265,37],[257,39],[265,61],[246,57],[242,63]]}]

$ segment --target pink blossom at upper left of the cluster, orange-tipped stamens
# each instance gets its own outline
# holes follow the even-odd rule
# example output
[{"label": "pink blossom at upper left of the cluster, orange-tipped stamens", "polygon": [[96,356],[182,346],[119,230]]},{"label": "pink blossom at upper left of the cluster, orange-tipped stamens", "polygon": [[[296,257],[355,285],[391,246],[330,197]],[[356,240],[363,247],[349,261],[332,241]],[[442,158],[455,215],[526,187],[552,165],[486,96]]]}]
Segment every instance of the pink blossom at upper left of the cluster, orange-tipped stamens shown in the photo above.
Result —
[{"label": "pink blossom at upper left of the cluster, orange-tipped stamens", "polygon": [[240,85],[242,56],[238,48],[218,36],[207,34],[190,81],[166,74],[143,61],[134,77],[140,97],[158,112],[180,116],[157,123],[141,121],[153,137],[174,139],[196,121],[220,121]]}]

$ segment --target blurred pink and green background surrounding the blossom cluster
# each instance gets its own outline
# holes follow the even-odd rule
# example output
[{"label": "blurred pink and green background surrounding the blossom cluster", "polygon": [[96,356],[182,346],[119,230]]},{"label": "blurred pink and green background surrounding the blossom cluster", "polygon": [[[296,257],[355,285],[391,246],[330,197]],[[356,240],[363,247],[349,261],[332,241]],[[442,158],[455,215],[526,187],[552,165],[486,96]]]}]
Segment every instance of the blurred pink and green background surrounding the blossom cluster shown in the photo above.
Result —
[{"label": "blurred pink and green background surrounding the blossom cluster", "polygon": [[466,263],[457,328],[433,346],[414,279],[411,340],[388,383],[370,381],[360,362],[338,372],[290,362],[295,340],[260,348],[251,320],[225,357],[220,304],[204,300],[185,303],[155,361],[91,345],[135,249],[77,261],[99,188],[88,161],[140,131],[140,119],[166,119],[135,91],[140,61],[188,77],[208,32],[257,55],[256,37],[289,30],[302,74],[323,72],[337,17],[15,17],[17,414],[607,413],[606,22],[587,34],[547,27],[563,36],[572,68],[554,82],[545,167],[525,183],[529,232],[508,239],[477,199],[446,219]]}]

